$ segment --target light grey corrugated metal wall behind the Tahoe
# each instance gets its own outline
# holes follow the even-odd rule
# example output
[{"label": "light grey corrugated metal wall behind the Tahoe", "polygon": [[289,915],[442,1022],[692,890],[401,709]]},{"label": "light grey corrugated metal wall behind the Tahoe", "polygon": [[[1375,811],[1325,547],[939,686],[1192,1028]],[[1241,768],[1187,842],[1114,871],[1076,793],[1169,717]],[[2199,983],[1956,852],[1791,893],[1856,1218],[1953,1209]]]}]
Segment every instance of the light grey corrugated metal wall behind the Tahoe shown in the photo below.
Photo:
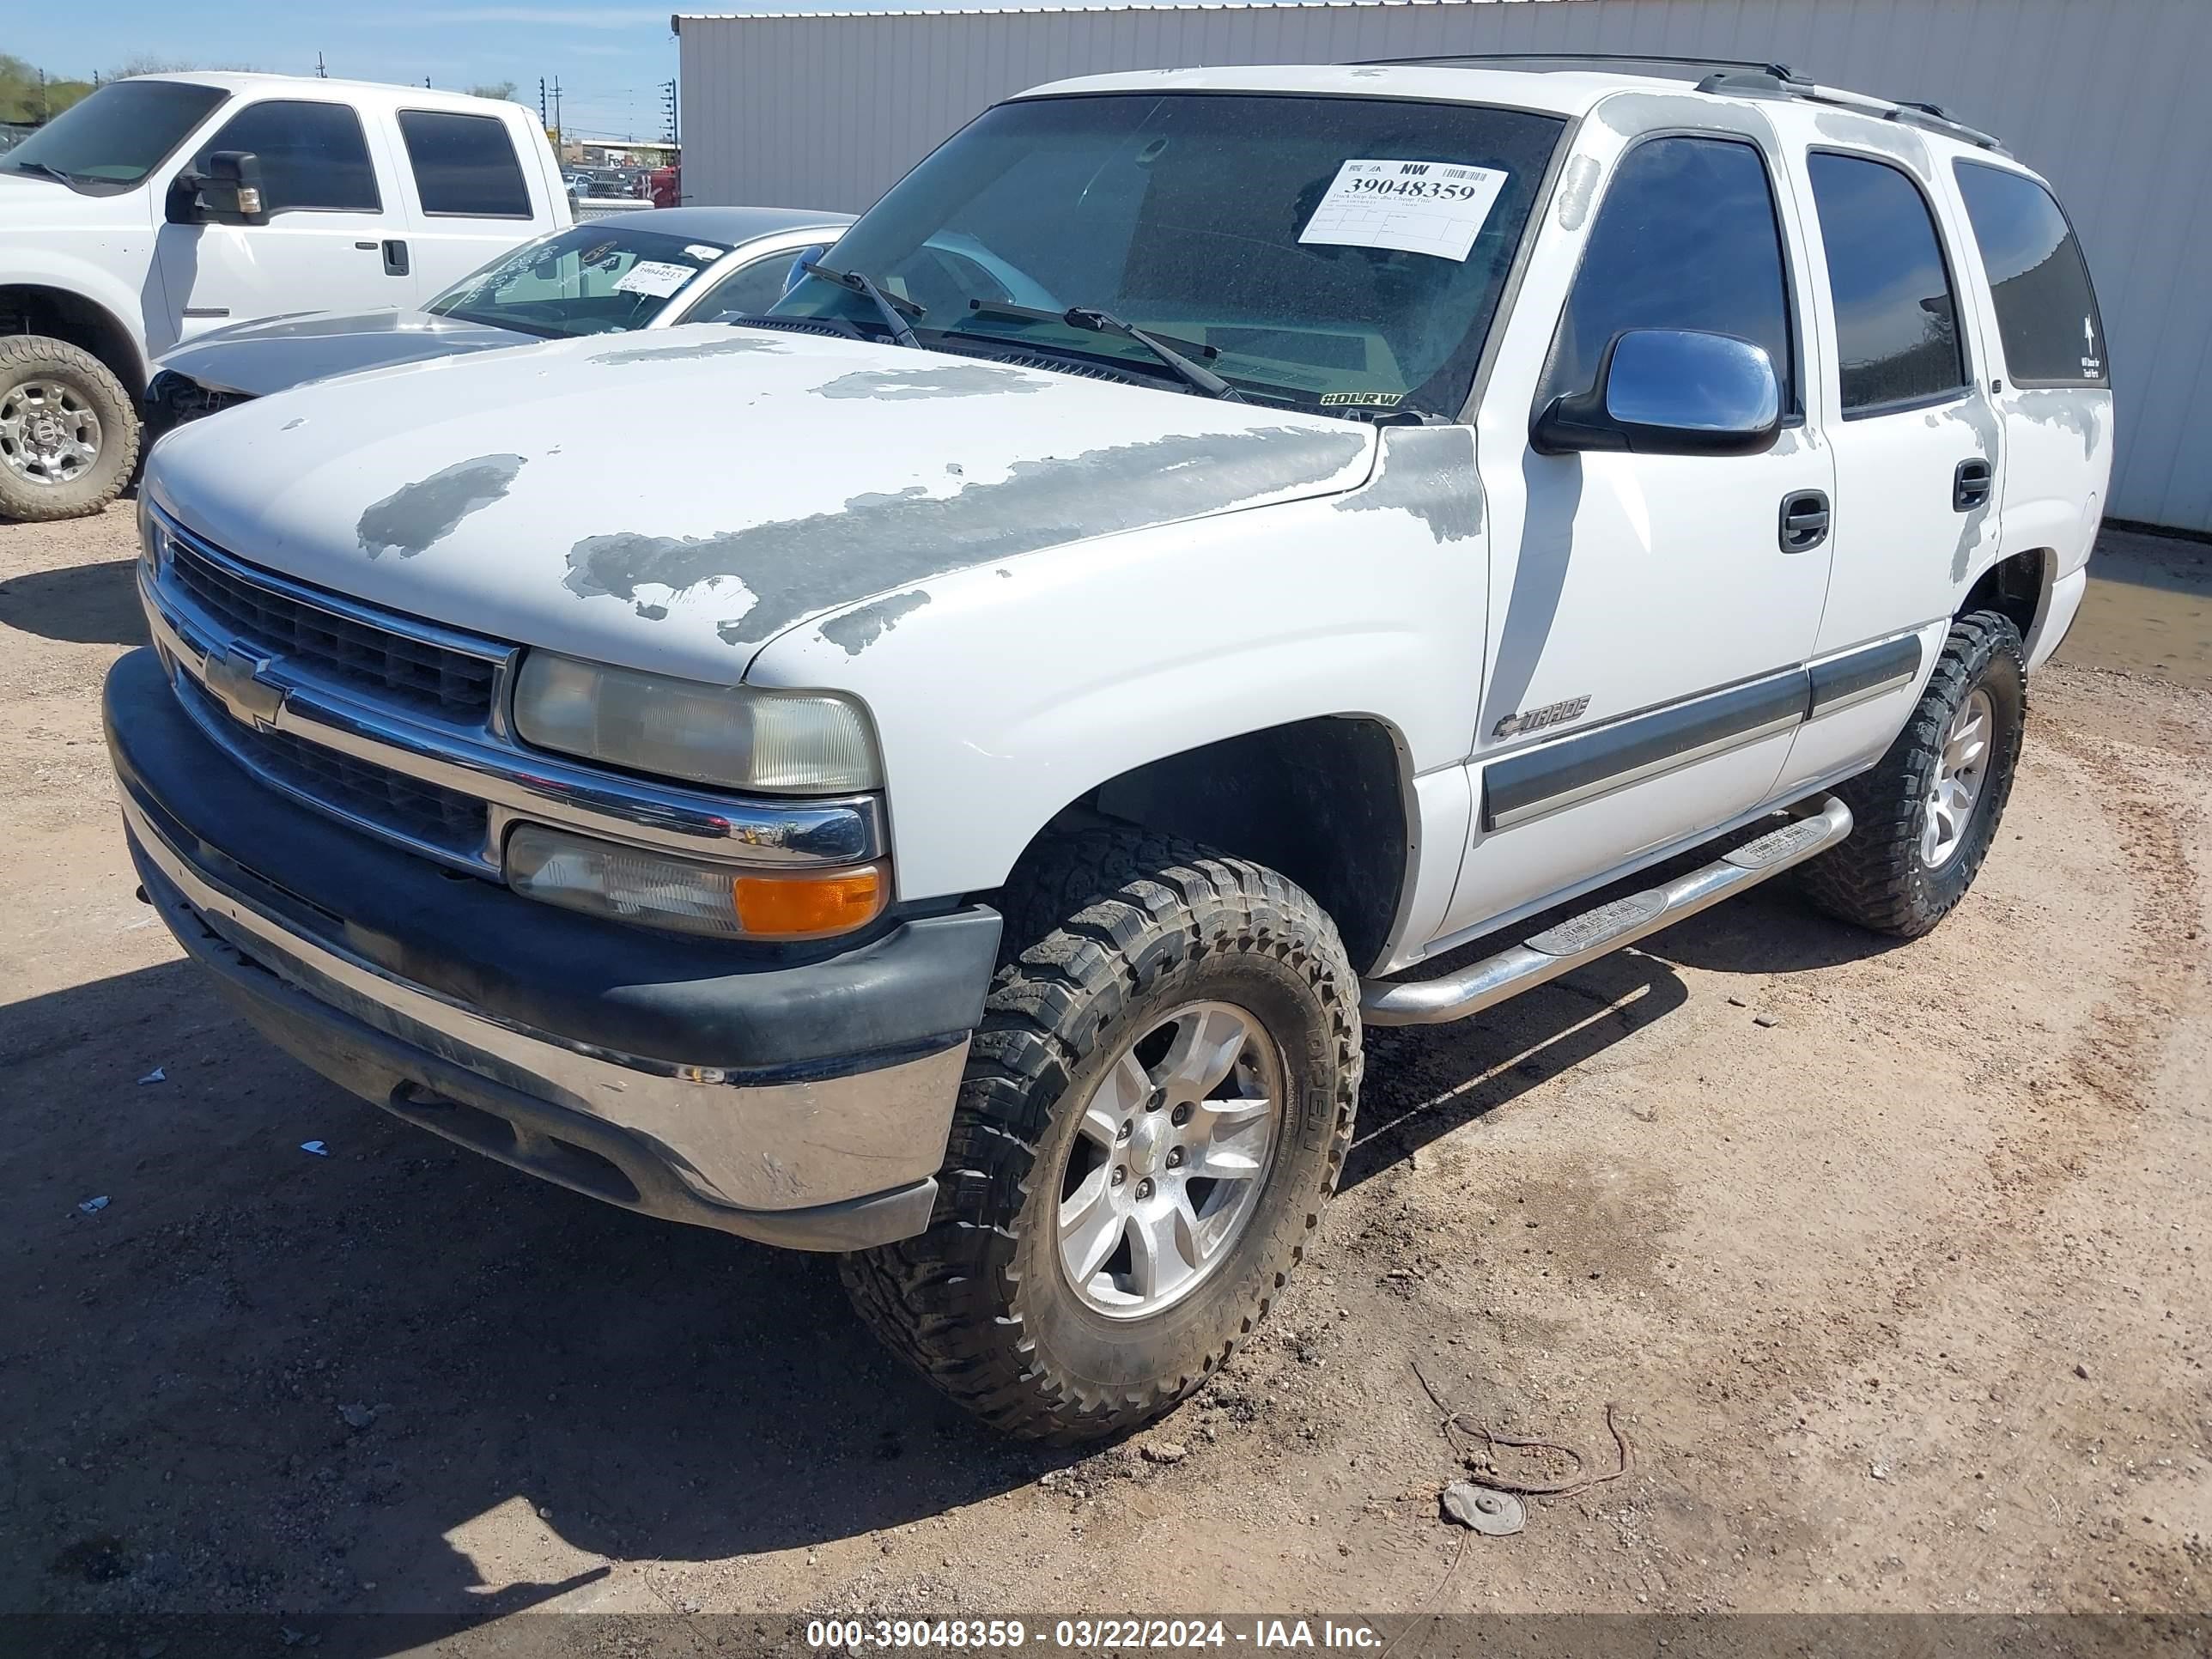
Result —
[{"label": "light grey corrugated metal wall behind the Tahoe", "polygon": [[1546,0],[684,18],[695,201],[858,210],[987,104],[1110,69],[1447,51],[1776,58],[1942,104],[2048,177],[2112,347],[2119,518],[2212,531],[2208,0]]}]

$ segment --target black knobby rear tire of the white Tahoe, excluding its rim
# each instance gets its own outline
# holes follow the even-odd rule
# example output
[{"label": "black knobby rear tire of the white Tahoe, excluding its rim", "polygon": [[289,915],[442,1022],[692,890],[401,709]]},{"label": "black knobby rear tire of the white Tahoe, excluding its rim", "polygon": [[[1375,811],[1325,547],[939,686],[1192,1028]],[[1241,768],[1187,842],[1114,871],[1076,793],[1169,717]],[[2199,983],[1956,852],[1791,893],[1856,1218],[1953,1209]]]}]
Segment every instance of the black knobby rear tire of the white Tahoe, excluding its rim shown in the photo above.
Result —
[{"label": "black knobby rear tire of the white Tahoe, excluding its rim", "polygon": [[[1929,783],[1951,719],[1975,690],[1989,692],[1989,770],[1958,852],[1929,867],[1920,854]],[[1920,938],[1966,896],[2013,792],[2028,714],[2028,661],[2020,628],[1995,611],[1951,624],[1920,706],[1871,772],[1838,785],[1854,827],[1840,847],[1805,865],[1805,894],[1829,916],[1876,933]]]}]

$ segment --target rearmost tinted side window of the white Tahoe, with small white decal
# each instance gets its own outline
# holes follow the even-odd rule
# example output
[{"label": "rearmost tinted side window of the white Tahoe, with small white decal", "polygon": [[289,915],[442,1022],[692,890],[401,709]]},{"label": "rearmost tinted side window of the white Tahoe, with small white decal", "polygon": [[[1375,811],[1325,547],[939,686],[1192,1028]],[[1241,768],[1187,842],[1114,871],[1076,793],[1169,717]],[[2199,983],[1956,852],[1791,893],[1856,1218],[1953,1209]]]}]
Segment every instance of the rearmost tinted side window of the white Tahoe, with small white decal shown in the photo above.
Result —
[{"label": "rearmost tinted side window of the white Tahoe, with small white decal", "polygon": [[2020,173],[1978,161],[1955,170],[1997,301],[2004,367],[2028,385],[2112,385],[2088,263],[2059,204]]}]

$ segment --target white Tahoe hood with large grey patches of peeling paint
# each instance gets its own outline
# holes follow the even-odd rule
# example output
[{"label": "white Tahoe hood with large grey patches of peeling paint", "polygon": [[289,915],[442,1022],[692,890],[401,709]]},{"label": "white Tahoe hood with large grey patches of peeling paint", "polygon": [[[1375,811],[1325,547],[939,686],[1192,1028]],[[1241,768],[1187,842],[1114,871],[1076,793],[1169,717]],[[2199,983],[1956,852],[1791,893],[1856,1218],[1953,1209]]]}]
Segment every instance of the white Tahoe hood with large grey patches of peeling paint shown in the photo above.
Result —
[{"label": "white Tahoe hood with large grey patches of peeling paint", "polygon": [[1347,420],[703,323],[283,392],[164,438],[146,487],[303,582],[728,679],[805,617],[1371,456]]}]

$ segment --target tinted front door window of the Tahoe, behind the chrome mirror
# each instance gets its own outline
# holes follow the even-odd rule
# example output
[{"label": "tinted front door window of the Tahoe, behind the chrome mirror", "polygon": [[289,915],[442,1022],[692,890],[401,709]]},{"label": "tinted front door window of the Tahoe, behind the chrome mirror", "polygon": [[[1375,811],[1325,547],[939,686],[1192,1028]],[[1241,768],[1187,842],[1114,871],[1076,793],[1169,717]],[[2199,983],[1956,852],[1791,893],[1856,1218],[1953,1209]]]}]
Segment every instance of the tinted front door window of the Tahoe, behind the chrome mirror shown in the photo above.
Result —
[{"label": "tinted front door window of the Tahoe, behind the chrome mirror", "polygon": [[1588,392],[1615,334],[1686,327],[1765,347],[1796,409],[1783,232],[1750,144],[1661,137],[1632,148],[1590,226],[1537,403]]}]

